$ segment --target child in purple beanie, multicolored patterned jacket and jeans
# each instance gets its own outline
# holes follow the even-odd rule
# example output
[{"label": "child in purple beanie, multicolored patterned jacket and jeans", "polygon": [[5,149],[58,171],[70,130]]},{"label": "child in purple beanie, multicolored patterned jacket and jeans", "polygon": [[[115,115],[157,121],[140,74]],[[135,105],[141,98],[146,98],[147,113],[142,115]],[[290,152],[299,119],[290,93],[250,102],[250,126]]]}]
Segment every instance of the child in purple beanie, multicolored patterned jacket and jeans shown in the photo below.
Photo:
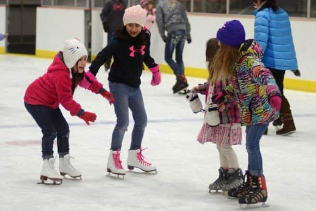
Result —
[{"label": "child in purple beanie, multicolored patterned jacket and jeans", "polygon": [[239,198],[239,204],[266,202],[268,191],[263,175],[260,139],[268,124],[279,116],[281,93],[269,69],[261,61],[261,46],[245,41],[245,31],[237,20],[228,21],[217,31],[220,50],[237,50],[235,57],[215,57],[214,68],[223,62],[234,62],[233,77],[222,91],[212,96],[212,101],[225,107],[237,99],[241,126],[246,126],[246,150],[248,153],[247,180],[237,188],[228,191],[230,197]]}]

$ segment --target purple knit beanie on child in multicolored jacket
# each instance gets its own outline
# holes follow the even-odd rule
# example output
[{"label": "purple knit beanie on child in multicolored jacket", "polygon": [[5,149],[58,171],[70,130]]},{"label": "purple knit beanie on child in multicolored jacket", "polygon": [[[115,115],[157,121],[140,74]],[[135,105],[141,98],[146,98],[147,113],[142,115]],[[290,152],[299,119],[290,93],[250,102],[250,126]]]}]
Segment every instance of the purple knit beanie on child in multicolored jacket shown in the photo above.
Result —
[{"label": "purple knit beanie on child in multicolored jacket", "polygon": [[245,29],[238,20],[225,22],[216,35],[217,40],[232,47],[239,47],[245,42],[245,37]]}]

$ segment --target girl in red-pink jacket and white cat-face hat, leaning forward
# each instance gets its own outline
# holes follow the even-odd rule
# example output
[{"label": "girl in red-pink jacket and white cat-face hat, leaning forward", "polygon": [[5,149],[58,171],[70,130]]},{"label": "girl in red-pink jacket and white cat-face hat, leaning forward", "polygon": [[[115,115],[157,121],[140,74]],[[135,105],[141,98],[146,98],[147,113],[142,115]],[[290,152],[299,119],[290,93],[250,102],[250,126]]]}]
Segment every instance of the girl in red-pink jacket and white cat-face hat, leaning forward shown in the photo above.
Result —
[{"label": "girl in red-pink jacket and white cat-face hat, leaning forward", "polygon": [[[70,111],[72,116],[78,116],[89,125],[89,122],[96,120],[96,115],[84,111],[74,100],[73,94],[78,85],[94,93],[100,93],[110,104],[114,103],[111,93],[105,90],[91,73],[84,72],[87,55],[85,46],[79,40],[66,40],[63,51],[59,51],[54,57],[47,73],[30,84],[25,92],[25,107],[43,134],[43,167],[40,172],[42,183],[49,178],[54,184],[55,181],[61,184],[61,175],[66,174],[73,178],[81,178],[80,171],[70,163],[69,126],[59,104]],[[61,175],[54,167],[53,143],[56,137]]]}]

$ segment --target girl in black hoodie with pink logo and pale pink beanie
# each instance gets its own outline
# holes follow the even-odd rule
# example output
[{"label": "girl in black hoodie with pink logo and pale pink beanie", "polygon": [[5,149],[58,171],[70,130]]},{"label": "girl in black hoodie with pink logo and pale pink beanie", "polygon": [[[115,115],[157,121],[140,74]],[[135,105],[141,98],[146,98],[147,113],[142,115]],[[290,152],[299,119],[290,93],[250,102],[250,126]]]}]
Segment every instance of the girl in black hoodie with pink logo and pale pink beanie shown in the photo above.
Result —
[{"label": "girl in black hoodie with pink logo and pale pink beanie", "polygon": [[128,150],[128,169],[139,168],[143,171],[156,171],[156,167],[144,160],[141,144],[147,126],[147,115],[140,89],[143,62],[153,74],[151,85],[160,84],[159,66],[150,56],[150,32],[144,29],[146,11],[140,6],[125,9],[124,26],[116,32],[114,41],[98,53],[91,63],[90,71],[96,75],[107,58],[114,58],[109,73],[109,87],[114,96],[114,109],[117,124],[112,134],[112,143],[107,163],[107,171],[124,175],[120,160],[120,149],[127,130],[131,110],[134,119],[131,145]]}]

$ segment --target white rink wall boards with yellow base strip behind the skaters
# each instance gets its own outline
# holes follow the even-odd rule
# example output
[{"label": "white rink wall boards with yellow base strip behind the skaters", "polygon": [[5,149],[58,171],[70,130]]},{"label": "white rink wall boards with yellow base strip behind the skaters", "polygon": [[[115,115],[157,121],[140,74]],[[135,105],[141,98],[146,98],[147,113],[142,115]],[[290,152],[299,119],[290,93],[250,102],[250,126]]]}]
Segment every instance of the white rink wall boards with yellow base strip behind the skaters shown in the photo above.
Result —
[{"label": "white rink wall boards with yellow base strip behind the skaters", "polygon": [[[91,25],[91,58],[107,44],[107,34],[103,32],[99,17],[101,10],[92,10]],[[52,58],[63,46],[63,41],[70,38],[84,39],[84,10],[38,7],[37,10],[36,55]],[[186,43],[183,53],[185,74],[206,80],[205,43],[215,37],[223,23],[238,19],[244,25],[246,39],[253,38],[254,16],[188,13],[191,23],[192,43]],[[68,21],[69,20],[69,21]],[[70,21],[71,20],[71,21]],[[295,90],[316,92],[316,72],[313,62],[316,57],[316,19],[291,18],[293,41],[295,44],[301,78],[286,71],[284,87]],[[151,29],[151,55],[160,65],[163,73],[172,74],[164,61],[164,42],[161,40],[156,24]],[[190,84],[194,85],[194,84]]]}]

